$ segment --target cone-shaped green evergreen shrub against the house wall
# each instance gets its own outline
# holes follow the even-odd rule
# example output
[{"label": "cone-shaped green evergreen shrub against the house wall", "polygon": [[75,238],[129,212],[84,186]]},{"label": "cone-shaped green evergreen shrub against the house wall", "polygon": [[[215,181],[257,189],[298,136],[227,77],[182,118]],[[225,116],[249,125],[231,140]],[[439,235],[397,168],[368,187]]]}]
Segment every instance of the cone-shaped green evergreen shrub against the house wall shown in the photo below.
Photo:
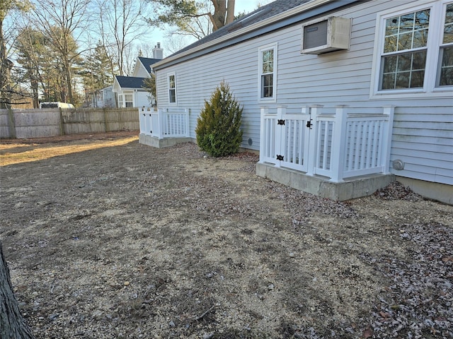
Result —
[{"label": "cone-shaped green evergreen shrub against the house wall", "polygon": [[221,83],[197,119],[197,144],[212,157],[237,153],[242,142],[242,107],[230,92],[229,85]]}]

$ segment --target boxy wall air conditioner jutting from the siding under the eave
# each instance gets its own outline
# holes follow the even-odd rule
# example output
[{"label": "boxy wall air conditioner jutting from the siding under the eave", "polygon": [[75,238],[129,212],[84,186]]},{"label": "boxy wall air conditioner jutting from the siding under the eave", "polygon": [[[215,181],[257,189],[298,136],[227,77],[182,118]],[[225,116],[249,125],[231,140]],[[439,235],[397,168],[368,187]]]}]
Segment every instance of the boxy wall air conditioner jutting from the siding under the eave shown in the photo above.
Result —
[{"label": "boxy wall air conditioner jutting from the siding under the eave", "polygon": [[303,54],[323,54],[349,49],[351,19],[331,16],[326,20],[302,26]]}]

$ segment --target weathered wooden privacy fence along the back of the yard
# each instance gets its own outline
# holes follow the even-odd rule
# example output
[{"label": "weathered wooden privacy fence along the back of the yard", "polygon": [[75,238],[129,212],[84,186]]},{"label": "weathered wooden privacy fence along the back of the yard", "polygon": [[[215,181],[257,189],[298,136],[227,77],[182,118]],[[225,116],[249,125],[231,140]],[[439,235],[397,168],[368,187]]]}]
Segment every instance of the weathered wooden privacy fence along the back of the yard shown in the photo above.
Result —
[{"label": "weathered wooden privacy fence along the back of the yard", "polygon": [[137,108],[0,109],[0,138],[138,131]]}]

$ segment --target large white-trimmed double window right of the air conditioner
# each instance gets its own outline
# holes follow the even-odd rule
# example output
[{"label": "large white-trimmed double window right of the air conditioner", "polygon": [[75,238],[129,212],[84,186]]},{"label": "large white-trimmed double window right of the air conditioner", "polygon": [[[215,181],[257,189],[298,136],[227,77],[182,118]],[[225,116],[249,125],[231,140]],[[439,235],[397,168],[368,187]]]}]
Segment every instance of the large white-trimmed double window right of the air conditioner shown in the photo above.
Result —
[{"label": "large white-trimmed double window right of the air conditioner", "polygon": [[379,17],[374,93],[433,93],[453,86],[453,1]]}]

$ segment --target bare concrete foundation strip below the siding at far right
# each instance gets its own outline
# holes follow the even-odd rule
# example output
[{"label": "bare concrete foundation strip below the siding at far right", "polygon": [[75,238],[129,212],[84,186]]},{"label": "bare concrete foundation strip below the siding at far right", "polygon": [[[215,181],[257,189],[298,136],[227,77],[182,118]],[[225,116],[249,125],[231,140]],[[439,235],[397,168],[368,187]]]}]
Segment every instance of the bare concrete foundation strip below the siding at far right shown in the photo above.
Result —
[{"label": "bare concrete foundation strip below the siding at far right", "polygon": [[401,184],[409,187],[416,194],[420,194],[420,196],[453,205],[452,185],[439,184],[438,182],[425,182],[424,180],[405,177],[396,177],[396,181],[401,182]]}]

